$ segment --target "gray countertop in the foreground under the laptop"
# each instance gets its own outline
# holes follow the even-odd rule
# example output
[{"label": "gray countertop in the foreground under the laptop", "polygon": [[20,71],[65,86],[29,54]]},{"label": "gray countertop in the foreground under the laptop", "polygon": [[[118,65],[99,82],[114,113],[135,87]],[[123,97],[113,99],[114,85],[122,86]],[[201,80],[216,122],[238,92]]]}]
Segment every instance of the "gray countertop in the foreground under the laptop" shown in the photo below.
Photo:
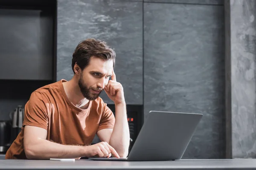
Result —
[{"label": "gray countertop in the foreground under the laptop", "polygon": [[50,161],[0,160],[0,169],[103,170],[103,169],[170,169],[170,170],[256,170],[256,159],[181,159],[176,161]]}]

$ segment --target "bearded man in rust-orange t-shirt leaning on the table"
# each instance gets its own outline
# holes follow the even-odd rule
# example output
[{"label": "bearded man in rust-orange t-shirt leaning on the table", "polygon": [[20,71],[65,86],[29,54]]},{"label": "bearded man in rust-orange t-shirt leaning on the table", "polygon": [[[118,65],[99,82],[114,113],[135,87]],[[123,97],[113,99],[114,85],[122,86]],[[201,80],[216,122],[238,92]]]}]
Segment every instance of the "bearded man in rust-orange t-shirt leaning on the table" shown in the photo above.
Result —
[{"label": "bearded man in rust-orange t-shirt leaning on the table", "polygon": [[[73,53],[73,78],[31,94],[6,159],[126,157],[130,136],[123,88],[113,71],[115,57],[106,42],[80,42]],[[103,90],[115,103],[115,117],[99,97]],[[102,142],[90,145],[95,134]]]}]

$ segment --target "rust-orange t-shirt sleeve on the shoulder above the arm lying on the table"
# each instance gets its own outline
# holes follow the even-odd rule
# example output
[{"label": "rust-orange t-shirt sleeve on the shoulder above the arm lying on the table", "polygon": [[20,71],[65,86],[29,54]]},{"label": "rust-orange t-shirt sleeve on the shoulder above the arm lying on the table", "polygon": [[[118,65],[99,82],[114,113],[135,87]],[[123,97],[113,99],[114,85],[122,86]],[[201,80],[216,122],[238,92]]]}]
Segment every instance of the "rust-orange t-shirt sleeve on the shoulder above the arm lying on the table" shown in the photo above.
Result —
[{"label": "rust-orange t-shirt sleeve on the shoulder above the arm lying on the table", "polygon": [[23,127],[25,125],[41,127],[47,130],[48,114],[41,93],[33,92],[25,105]]}]

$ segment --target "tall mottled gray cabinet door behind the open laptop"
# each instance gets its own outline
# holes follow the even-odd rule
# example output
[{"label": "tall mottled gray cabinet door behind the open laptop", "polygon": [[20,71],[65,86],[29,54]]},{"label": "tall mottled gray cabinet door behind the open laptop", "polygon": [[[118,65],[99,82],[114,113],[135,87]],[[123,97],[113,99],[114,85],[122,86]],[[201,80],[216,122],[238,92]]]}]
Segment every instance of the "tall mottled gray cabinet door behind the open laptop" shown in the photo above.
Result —
[{"label": "tall mottled gray cabinet door behind the open laptop", "polygon": [[183,158],[224,158],[224,7],[144,3],[144,117],[202,113]]}]

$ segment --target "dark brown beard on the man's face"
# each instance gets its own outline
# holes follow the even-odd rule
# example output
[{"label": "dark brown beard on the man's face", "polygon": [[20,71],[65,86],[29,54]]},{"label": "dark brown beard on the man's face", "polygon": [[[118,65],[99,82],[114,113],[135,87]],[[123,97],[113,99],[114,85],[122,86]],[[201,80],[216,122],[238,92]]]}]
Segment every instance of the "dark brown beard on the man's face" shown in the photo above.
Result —
[{"label": "dark brown beard on the man's face", "polygon": [[[84,83],[84,79],[82,78],[83,75],[81,74],[79,80],[78,80],[78,85],[79,85],[79,88],[80,88],[80,91],[81,93],[83,94],[84,98],[88,99],[88,100],[95,100],[99,97],[100,93],[102,92],[101,88],[94,88],[93,86],[90,86],[88,87],[86,85],[86,83]],[[99,94],[93,94],[90,92],[90,89],[92,90],[96,90],[96,91],[99,91]]]}]

